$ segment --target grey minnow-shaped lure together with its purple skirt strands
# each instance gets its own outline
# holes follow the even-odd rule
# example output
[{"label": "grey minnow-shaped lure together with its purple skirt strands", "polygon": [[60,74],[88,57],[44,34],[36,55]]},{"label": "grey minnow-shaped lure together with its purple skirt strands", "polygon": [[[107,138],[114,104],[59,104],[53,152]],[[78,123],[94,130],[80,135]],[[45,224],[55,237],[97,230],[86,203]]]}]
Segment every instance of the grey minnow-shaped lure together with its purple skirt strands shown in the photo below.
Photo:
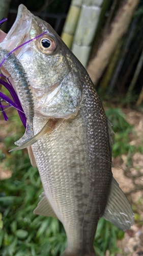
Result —
[{"label": "grey minnow-shaped lure together with its purple skirt strands", "polygon": [[[3,23],[3,24],[4,24],[4,22],[5,22],[5,19],[3,19],[1,21],[1,23]],[[1,23],[0,23],[0,26],[1,26]],[[1,54],[0,68],[4,67],[9,72],[9,74],[11,75],[11,77],[13,78],[13,80],[15,82],[16,88],[21,96],[22,102],[24,102],[24,112],[23,112],[19,98],[18,98],[14,88],[12,87],[10,80],[8,78],[6,78],[3,74],[1,74],[1,76],[5,77],[7,79],[7,82],[2,79],[0,79],[0,82],[1,82],[1,84],[3,84],[4,87],[7,88],[7,90],[10,92],[10,94],[12,95],[12,98],[14,100],[14,102],[13,102],[8,96],[6,96],[2,92],[0,92],[1,101],[6,101],[9,103],[9,105],[7,105],[7,106],[0,104],[0,108],[2,109],[4,118],[5,118],[5,120],[8,120],[8,117],[4,111],[4,108],[6,108],[8,106],[14,106],[14,108],[16,108],[18,110],[18,114],[21,118],[21,121],[22,121],[24,127],[26,128],[25,134],[23,135],[23,137],[20,140],[18,140],[15,143],[16,145],[21,145],[21,144],[27,142],[28,140],[30,140],[34,136],[34,133],[33,133],[34,101],[33,101],[32,93],[30,92],[30,83],[27,80],[25,71],[24,71],[21,63],[19,62],[19,60],[13,54],[13,52],[16,51],[17,49],[19,49],[20,47],[24,46],[25,44],[28,44],[29,42],[37,39],[38,37],[41,37],[45,33],[46,32],[24,42],[20,46],[13,49],[11,52],[8,52],[7,50],[0,48],[0,54]]]}]

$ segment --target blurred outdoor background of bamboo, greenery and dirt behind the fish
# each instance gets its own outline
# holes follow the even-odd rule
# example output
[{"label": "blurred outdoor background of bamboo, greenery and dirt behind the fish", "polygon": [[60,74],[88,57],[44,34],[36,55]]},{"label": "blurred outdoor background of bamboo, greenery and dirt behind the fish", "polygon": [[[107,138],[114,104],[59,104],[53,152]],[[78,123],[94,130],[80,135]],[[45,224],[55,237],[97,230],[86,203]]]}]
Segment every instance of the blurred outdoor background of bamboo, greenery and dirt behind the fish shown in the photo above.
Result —
[{"label": "blurred outdoor background of bamboo, greenery and dirt behind the fish", "polygon": [[[8,18],[5,32],[19,4],[46,20],[79,58],[114,125],[113,175],[132,204],[135,225],[124,233],[101,218],[96,254],[143,255],[143,1],[0,0],[0,19]],[[26,150],[8,153],[24,128],[16,110],[6,113],[7,122],[0,112],[0,255],[60,256],[66,247],[64,228],[58,220],[33,214],[41,180]]]}]

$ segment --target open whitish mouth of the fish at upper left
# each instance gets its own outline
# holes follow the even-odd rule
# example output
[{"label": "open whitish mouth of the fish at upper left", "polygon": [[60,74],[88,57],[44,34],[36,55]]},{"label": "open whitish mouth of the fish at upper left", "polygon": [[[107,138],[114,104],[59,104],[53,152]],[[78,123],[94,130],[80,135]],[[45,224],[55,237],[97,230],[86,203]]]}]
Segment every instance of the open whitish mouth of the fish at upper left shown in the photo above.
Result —
[{"label": "open whitish mouth of the fish at upper left", "polygon": [[33,14],[24,5],[19,5],[16,20],[3,42],[1,42],[0,47],[12,51],[27,41],[31,30],[32,16]]}]

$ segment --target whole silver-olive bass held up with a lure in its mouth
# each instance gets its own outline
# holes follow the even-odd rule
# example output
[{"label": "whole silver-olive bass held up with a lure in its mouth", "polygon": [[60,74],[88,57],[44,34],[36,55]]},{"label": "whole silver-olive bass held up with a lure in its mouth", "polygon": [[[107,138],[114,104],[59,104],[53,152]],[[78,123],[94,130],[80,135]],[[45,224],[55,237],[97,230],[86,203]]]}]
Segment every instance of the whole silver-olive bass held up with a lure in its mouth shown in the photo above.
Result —
[{"label": "whole silver-olive bass held up with a lure in its mouth", "polygon": [[[34,214],[63,223],[67,247],[62,256],[95,256],[99,219],[125,230],[134,214],[111,172],[112,124],[87,71],[59,35],[20,5],[0,47],[10,52],[44,32],[14,52],[34,101],[34,136],[20,145],[28,147],[44,188]],[[12,84],[24,109],[15,78]]]}]

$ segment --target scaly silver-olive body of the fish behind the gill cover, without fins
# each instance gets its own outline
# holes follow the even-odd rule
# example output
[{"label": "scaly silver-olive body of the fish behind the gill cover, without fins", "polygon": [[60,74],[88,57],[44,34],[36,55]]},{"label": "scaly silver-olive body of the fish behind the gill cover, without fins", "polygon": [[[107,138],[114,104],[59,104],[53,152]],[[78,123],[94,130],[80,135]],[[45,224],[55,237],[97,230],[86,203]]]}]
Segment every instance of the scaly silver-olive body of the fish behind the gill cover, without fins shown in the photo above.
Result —
[{"label": "scaly silver-olive body of the fish behind the gill cover, without fins", "polygon": [[[71,255],[94,255],[88,252],[109,193],[111,168],[104,160],[109,160],[108,139],[101,113],[97,116],[99,123],[83,104],[76,117],[32,146],[45,195],[64,225]],[[46,121],[35,117],[35,134]]]}]

